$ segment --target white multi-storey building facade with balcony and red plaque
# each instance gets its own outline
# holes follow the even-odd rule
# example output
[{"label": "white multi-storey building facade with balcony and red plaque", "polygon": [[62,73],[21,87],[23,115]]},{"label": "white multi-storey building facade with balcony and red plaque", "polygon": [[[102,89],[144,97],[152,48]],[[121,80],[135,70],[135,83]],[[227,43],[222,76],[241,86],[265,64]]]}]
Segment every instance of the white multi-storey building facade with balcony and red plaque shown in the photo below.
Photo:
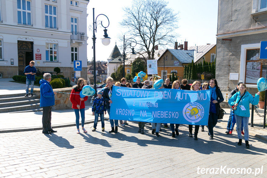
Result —
[{"label": "white multi-storey building facade with balcony and red plaque", "polygon": [[23,75],[34,60],[40,72],[74,81],[73,61],[87,76],[87,5],[89,0],[0,0],[0,77]]}]

